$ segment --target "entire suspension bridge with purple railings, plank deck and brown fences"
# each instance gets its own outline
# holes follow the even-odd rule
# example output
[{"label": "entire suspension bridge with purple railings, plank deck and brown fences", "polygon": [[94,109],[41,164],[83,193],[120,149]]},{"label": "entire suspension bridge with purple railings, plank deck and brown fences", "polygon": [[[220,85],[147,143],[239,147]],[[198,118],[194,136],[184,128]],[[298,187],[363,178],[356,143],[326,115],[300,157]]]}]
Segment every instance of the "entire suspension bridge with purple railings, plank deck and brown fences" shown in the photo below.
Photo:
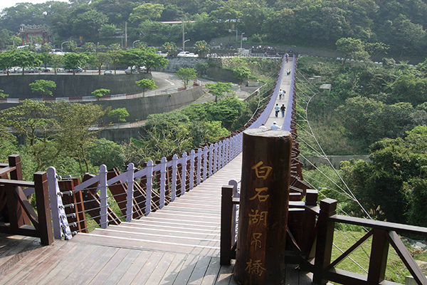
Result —
[{"label": "entire suspension bridge with purple railings, plank deck and brown fences", "polygon": [[[332,199],[317,204],[317,191],[302,179],[297,160],[295,69],[295,57],[283,61],[268,103],[245,128],[275,123],[293,139],[284,284],[390,284],[384,281],[389,245],[416,283],[427,284],[396,234],[427,234],[427,229],[340,216]],[[283,116],[275,113],[275,105],[286,106]],[[18,202],[0,204],[0,213],[9,217],[9,223],[0,224],[0,284],[237,284],[233,269],[242,131],[191,152],[149,161],[142,169],[131,163],[120,173],[101,165],[98,175],[85,175],[81,182],[59,177],[53,167],[36,173],[33,183],[16,182],[22,180],[21,162],[9,157],[9,164],[0,168],[0,201],[7,197]],[[25,202],[33,192],[37,214]],[[371,230],[332,261],[336,222]],[[337,269],[370,237],[366,276]],[[261,276],[258,269],[251,267]]]}]

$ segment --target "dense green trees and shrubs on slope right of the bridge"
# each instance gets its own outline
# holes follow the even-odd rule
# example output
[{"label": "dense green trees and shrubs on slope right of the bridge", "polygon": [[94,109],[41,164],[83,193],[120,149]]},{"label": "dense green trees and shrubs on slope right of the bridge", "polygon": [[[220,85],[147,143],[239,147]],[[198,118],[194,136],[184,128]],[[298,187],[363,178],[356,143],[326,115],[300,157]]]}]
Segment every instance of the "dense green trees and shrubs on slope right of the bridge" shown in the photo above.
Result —
[{"label": "dense green trees and shrubs on slope right of the bridge", "polygon": [[[427,226],[421,218],[427,214],[421,206],[427,185],[426,63],[413,67],[402,63],[380,66],[369,61],[342,65],[336,60],[308,57],[298,61],[300,116],[305,118],[305,96],[314,95],[323,83],[332,84],[330,93],[316,93],[307,108],[310,127],[323,150],[327,155],[369,153],[369,162],[343,162],[339,170],[356,198],[345,194],[349,190],[334,172],[321,169],[335,177],[333,183],[312,171],[306,172],[314,187],[327,197],[338,199],[342,211]],[[306,78],[312,76],[322,76],[322,82],[310,86]],[[307,130],[307,123],[301,121],[300,128]],[[315,145],[310,134],[302,132],[300,138]],[[300,148],[304,155],[315,155],[305,144]]]}]

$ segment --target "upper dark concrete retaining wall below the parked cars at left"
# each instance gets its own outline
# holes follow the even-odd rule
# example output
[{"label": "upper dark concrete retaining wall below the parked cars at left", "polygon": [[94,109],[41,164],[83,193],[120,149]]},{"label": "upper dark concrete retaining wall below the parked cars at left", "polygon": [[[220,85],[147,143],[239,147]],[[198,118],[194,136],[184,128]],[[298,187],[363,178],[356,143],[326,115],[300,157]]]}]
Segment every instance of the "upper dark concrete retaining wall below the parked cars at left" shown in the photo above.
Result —
[{"label": "upper dark concrete retaining wall below the parked cars at left", "polygon": [[[114,78],[114,80],[112,80]],[[33,93],[29,87],[30,83],[44,79],[55,81],[56,89],[52,90],[53,97],[80,97],[90,96],[93,90],[105,88],[110,89],[110,94],[140,93],[141,88],[135,84],[142,78],[152,78],[151,73],[140,74],[115,74],[115,75],[85,75],[76,74],[26,74],[0,76],[0,89],[9,98],[41,98],[41,93]],[[50,96],[49,96],[50,97]]]}]

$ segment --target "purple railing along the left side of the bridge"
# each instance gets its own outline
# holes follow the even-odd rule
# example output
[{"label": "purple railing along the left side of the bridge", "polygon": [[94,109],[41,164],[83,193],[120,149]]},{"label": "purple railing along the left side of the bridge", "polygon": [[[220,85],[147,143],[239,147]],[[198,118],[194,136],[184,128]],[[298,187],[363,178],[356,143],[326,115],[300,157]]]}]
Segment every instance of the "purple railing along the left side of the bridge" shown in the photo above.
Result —
[{"label": "purple railing along the left side of the bridge", "polygon": [[70,239],[77,232],[88,232],[91,227],[105,229],[108,224],[145,216],[207,180],[241,152],[243,130],[258,128],[266,122],[280,90],[277,83],[281,80],[279,76],[270,100],[258,115],[241,130],[218,142],[182,155],[162,157],[159,162],[149,160],[141,170],[132,163],[123,173],[101,165],[98,175],[85,175],[83,182],[62,179],[54,167],[49,167],[55,238]]}]

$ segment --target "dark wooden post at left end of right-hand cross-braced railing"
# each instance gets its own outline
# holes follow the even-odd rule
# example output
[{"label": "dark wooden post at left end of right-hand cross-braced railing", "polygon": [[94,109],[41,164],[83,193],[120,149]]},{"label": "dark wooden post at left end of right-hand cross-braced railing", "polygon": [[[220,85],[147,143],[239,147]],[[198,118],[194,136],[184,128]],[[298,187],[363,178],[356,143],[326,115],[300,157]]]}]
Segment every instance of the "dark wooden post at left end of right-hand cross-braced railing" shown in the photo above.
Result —
[{"label": "dark wooden post at left end of right-hand cross-braced railing", "polygon": [[317,240],[315,269],[313,272],[313,284],[325,284],[327,280],[323,279],[323,269],[331,263],[332,242],[334,241],[335,222],[330,221],[329,217],[335,214],[337,209],[337,200],[322,199],[320,201],[320,214],[317,219]]}]

